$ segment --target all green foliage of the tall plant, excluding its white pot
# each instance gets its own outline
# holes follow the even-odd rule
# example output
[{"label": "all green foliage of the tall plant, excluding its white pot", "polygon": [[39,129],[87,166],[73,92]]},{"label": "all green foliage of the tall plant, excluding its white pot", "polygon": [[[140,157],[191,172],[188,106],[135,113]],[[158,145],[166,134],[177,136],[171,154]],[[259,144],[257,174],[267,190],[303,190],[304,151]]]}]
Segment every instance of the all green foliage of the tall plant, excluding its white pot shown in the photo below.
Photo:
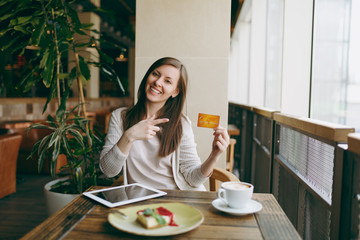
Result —
[{"label": "all green foliage of the tall plant, excluding its white pot", "polygon": [[[59,192],[80,194],[89,186],[97,185],[96,159],[104,140],[89,127],[86,118],[83,82],[91,78],[89,66],[99,67],[105,76],[116,81],[121,89],[123,87],[112,68],[113,59],[100,49],[101,44],[112,43],[104,42],[101,34],[92,29],[92,24],[80,22],[74,3],[76,1],[1,1],[0,50],[23,55],[26,49],[34,49],[16,87],[26,92],[42,82],[49,89],[43,112],[52,99],[56,99],[57,111],[56,116],[48,116],[43,123],[29,128],[44,128],[50,132],[34,145],[30,157],[38,156],[39,170],[48,159],[50,173],[55,176],[58,156],[64,154],[67,164],[62,170],[68,178],[53,188],[58,188]],[[93,49],[99,61],[82,57],[82,52],[92,54]],[[74,55],[74,67],[67,69],[70,54]],[[74,83],[78,86],[79,103],[74,109],[67,109],[67,99]]]}]

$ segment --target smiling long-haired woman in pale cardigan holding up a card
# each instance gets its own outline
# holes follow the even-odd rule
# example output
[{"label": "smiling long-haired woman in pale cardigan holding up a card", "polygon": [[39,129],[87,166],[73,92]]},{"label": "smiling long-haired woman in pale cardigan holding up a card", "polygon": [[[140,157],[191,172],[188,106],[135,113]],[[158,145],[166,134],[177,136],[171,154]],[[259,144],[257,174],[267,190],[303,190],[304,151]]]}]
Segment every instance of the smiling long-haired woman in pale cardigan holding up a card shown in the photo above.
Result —
[{"label": "smiling long-haired woman in pale cardigan holding up a card", "polygon": [[205,190],[216,161],[229,144],[226,129],[214,129],[212,151],[201,164],[188,117],[182,114],[187,72],[175,58],[161,58],[146,72],[135,106],[115,110],[110,119],[100,169],[124,183],[158,189]]}]

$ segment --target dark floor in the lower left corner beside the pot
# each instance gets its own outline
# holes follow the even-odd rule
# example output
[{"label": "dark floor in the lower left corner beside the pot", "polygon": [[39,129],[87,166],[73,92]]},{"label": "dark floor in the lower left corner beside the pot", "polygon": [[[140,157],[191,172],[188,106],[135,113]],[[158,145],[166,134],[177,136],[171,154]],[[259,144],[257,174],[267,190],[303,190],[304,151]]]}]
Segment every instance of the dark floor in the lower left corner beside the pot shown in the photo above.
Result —
[{"label": "dark floor in the lower left corner beside the pot", "polygon": [[18,175],[16,193],[0,199],[0,239],[19,239],[43,222],[46,213],[44,185],[48,175]]}]

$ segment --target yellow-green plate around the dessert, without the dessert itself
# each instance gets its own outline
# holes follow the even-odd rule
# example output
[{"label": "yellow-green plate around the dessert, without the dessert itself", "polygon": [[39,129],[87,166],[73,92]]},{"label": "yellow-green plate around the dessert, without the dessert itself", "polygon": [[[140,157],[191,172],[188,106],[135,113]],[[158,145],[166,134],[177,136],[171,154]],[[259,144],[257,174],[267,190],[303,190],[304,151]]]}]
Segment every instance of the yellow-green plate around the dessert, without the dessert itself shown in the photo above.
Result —
[{"label": "yellow-green plate around the dessert, without the dessert itself", "polygon": [[[136,221],[137,211],[158,207],[164,207],[173,212],[175,214],[174,221],[178,226],[145,229]],[[124,219],[117,213],[109,213],[109,223],[121,231],[141,236],[171,236],[185,233],[198,227],[204,221],[204,216],[199,210],[183,203],[157,203],[118,209],[128,218]]]}]

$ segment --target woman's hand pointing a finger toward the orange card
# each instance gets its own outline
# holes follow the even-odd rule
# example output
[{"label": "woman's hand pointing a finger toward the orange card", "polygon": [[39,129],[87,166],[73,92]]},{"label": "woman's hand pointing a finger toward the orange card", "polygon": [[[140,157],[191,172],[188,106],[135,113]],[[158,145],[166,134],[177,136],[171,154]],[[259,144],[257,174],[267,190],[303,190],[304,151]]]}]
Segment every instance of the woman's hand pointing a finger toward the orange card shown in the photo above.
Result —
[{"label": "woman's hand pointing a finger toward the orange card", "polygon": [[155,119],[155,115],[153,115],[129,128],[125,134],[127,135],[127,138],[130,142],[151,139],[158,131],[160,131],[160,127],[156,125],[166,123],[168,121],[168,118]]}]

